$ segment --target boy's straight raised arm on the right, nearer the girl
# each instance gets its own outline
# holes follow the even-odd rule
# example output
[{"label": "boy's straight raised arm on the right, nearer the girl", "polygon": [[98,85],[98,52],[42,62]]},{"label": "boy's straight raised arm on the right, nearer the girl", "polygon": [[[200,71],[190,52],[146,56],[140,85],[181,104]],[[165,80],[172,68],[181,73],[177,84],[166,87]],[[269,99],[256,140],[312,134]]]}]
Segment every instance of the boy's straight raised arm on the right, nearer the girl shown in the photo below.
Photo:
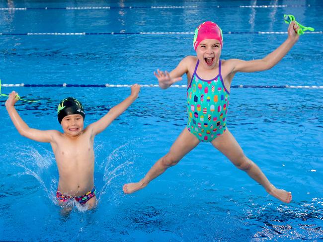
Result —
[{"label": "boy's straight raised arm on the right, nearer the girl", "polygon": [[112,121],[118,118],[137,98],[140,91],[140,85],[134,84],[131,86],[131,95],[123,100],[118,105],[110,109],[101,119],[88,125],[87,128],[92,129],[94,135],[102,132]]}]

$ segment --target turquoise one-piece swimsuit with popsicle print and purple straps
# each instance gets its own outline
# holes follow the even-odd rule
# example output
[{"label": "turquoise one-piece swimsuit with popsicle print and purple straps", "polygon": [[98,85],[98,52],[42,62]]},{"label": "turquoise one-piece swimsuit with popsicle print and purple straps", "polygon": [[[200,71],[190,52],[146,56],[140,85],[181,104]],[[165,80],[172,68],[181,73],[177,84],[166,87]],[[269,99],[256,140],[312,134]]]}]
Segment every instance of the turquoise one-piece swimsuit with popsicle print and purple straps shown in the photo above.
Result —
[{"label": "turquoise one-piece swimsuit with popsicle print and purple straps", "polygon": [[202,142],[210,142],[226,130],[230,93],[223,83],[221,60],[219,74],[211,80],[201,79],[197,60],[187,88],[187,129]]}]

